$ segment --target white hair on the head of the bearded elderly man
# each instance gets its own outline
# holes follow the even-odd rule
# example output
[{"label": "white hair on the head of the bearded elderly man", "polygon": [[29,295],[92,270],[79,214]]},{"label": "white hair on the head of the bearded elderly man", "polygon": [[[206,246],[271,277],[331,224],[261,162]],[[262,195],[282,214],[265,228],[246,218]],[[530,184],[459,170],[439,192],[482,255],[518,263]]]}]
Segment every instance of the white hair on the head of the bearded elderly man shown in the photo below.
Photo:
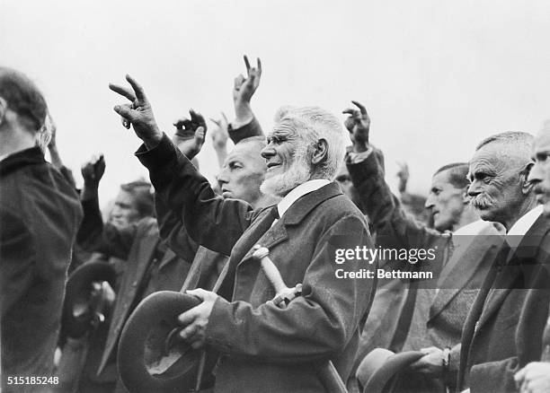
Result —
[{"label": "white hair on the head of the bearded elderly man", "polygon": [[332,113],[319,107],[281,107],[275,114],[275,122],[289,121],[298,131],[307,146],[313,146],[320,139],[328,145],[326,160],[315,168],[322,178],[333,180],[346,153],[348,135],[342,122]]}]

